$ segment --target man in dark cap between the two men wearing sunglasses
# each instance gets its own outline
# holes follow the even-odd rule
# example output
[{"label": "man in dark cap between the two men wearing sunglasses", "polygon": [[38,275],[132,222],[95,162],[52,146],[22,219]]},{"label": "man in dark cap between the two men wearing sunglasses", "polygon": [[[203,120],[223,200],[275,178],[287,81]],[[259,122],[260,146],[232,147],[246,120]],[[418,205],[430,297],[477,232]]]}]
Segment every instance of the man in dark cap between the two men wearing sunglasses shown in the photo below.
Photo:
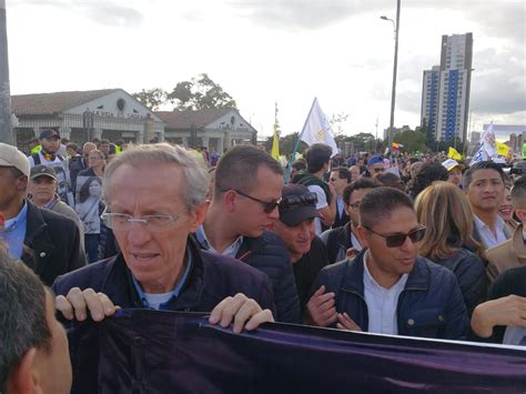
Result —
[{"label": "man in dark cap between the two men wearing sunglasses", "polygon": [[314,226],[314,219],[320,218],[316,202],[316,193],[310,192],[307,186],[285,184],[280,219],[274,221],[274,231],[285,242],[291,256],[302,310],[317,273],[327,264],[325,246]]}]

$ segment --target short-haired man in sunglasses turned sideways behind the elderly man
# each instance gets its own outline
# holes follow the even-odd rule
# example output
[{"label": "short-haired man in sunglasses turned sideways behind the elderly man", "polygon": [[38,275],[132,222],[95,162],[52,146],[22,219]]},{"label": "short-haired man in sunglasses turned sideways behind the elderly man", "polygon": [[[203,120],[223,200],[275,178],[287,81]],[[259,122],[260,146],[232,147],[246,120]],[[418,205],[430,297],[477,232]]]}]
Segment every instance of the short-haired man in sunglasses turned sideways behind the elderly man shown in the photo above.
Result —
[{"label": "short-haired man in sunglasses turned sideways behind the elderly man", "polygon": [[300,323],[300,301],[286,246],[269,231],[280,218],[282,189],[283,169],[269,153],[251,145],[231,149],[218,164],[214,195],[195,236],[201,247],[265,273],[274,292],[276,320]]}]

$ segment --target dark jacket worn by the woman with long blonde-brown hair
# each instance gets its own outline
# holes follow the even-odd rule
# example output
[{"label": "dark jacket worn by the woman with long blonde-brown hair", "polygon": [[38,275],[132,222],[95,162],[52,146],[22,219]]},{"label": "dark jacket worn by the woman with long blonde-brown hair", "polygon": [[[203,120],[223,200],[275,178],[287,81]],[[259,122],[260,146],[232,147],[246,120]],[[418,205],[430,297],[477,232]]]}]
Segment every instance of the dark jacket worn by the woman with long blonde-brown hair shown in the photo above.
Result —
[{"label": "dark jacket worn by the woman with long blonde-brown hair", "polygon": [[452,270],[455,274],[471,319],[475,306],[486,300],[486,264],[479,256],[464,247],[455,252],[452,257],[436,260],[435,263]]}]

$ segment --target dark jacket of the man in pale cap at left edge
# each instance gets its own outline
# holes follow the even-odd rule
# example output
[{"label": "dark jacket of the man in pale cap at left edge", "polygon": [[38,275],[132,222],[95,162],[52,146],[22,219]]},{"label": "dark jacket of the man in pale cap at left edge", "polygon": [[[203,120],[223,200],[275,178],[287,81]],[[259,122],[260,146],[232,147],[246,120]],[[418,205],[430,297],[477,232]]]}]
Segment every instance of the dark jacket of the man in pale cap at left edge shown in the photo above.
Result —
[{"label": "dark jacket of the man in pale cap at left edge", "polygon": [[69,218],[27,203],[27,247],[21,260],[49,286],[57,276],[85,265],[79,228]]}]

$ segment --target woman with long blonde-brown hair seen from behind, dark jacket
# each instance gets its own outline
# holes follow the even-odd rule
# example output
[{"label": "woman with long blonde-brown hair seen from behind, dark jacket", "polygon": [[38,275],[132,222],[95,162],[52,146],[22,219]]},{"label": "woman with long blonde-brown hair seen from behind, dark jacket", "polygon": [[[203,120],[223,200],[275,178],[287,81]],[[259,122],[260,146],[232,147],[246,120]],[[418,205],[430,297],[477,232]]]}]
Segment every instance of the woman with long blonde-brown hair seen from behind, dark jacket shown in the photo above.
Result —
[{"label": "woman with long blonde-brown hair seen from behind, dark jacket", "polygon": [[453,271],[471,316],[487,293],[482,245],[473,238],[473,212],[464,193],[452,183],[435,182],[415,202],[426,234],[418,254]]}]

